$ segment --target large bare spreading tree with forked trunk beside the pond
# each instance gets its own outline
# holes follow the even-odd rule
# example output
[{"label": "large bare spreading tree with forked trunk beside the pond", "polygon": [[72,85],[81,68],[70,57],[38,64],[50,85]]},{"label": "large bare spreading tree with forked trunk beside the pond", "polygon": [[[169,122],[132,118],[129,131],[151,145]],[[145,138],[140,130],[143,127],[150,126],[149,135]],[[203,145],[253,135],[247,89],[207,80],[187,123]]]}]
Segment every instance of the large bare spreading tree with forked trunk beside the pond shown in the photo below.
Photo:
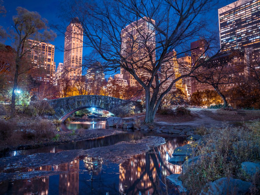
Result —
[{"label": "large bare spreading tree with forked trunk beside the pond", "polygon": [[[86,37],[83,46],[93,48],[91,58],[82,64],[83,67],[88,66],[91,60],[99,60],[99,68],[103,71],[120,68],[142,86],[145,91],[145,123],[149,123],[153,122],[162,98],[174,83],[191,76],[206,62],[196,63],[186,74],[172,79],[159,93],[161,86],[175,74],[166,70],[165,79],[159,82],[157,71],[161,64],[173,61],[168,55],[170,51],[178,48],[177,56],[181,56],[190,50],[185,49],[187,42],[201,36],[207,43],[201,55],[208,53],[213,57],[210,54],[213,49],[218,53],[216,48],[219,46],[213,44],[216,37],[203,30],[206,27],[203,14],[212,3],[211,0],[115,0],[89,5],[77,0],[67,2],[66,7],[71,10],[66,11],[66,18],[71,19],[77,14]],[[207,32],[207,35],[202,32]]]}]

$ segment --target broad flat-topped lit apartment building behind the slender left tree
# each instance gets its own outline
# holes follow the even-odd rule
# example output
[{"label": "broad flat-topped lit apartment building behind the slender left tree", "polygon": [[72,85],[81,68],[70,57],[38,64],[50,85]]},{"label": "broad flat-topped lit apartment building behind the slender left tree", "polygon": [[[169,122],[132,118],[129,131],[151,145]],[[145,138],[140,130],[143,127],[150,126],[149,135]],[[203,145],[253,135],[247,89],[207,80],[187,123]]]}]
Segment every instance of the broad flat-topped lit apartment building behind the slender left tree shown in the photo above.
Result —
[{"label": "broad flat-topped lit apartment building behind the slender left tree", "polygon": [[55,46],[50,43],[39,42],[35,40],[28,40],[28,52],[31,63],[34,63],[35,67],[42,67],[46,70],[44,73],[35,74],[35,79],[46,83],[53,83],[55,77],[56,65],[54,62],[54,50]]}]

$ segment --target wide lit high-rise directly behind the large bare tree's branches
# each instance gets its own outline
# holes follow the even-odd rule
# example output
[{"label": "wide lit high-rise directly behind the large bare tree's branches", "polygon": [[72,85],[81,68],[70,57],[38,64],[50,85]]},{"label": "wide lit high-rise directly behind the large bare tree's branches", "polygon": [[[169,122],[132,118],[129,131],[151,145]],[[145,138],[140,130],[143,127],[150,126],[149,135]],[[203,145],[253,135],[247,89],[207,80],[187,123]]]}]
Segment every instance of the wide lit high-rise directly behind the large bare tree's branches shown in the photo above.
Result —
[{"label": "wide lit high-rise directly behind the large bare tree's branches", "polygon": [[[155,29],[153,24],[155,24],[154,20],[149,20],[146,17],[141,18],[122,29],[120,35],[122,40],[121,55],[127,59],[129,67],[131,67],[131,63],[133,64],[137,76],[145,82],[151,78],[151,74],[145,68],[152,70],[148,50],[152,51],[152,60],[155,61]],[[149,49],[145,47],[144,42],[148,44]],[[124,75],[129,86],[138,84],[125,69],[121,68],[120,74]]]}]

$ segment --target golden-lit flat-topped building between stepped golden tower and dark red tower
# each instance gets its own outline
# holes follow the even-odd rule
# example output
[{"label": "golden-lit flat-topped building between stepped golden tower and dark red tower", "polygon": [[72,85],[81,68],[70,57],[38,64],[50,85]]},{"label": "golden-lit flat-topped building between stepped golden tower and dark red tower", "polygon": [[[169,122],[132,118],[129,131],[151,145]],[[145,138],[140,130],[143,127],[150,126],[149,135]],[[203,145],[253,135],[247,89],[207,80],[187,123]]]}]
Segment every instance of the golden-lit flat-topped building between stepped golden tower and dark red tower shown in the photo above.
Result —
[{"label": "golden-lit flat-topped building between stepped golden tower and dark red tower", "polygon": [[[177,59],[179,64],[180,75],[189,74],[191,71],[191,56],[185,56]],[[191,77],[184,77],[182,80],[182,88],[185,94],[189,97],[191,95]]]}]

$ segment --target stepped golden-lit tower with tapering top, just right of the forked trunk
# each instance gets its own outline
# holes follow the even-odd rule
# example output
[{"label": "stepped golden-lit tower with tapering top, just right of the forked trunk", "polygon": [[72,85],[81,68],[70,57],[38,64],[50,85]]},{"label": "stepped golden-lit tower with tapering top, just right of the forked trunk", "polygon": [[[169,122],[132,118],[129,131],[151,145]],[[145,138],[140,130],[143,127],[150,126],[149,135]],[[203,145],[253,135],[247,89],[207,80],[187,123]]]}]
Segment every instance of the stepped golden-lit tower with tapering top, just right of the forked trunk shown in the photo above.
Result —
[{"label": "stepped golden-lit tower with tapering top, just right of the forked trunk", "polygon": [[[169,52],[166,55],[164,62],[162,62],[162,64],[161,64],[162,81],[166,80],[164,83],[162,83],[162,88],[164,90],[167,89],[171,85],[171,83],[174,79],[177,79],[178,77],[180,77],[179,66],[178,66],[178,61],[177,61],[176,55],[177,55],[177,53],[174,50]],[[176,81],[173,84],[171,91],[174,91],[177,88],[179,88],[180,90],[182,90],[184,92],[184,89],[182,88],[182,79]]]}]

